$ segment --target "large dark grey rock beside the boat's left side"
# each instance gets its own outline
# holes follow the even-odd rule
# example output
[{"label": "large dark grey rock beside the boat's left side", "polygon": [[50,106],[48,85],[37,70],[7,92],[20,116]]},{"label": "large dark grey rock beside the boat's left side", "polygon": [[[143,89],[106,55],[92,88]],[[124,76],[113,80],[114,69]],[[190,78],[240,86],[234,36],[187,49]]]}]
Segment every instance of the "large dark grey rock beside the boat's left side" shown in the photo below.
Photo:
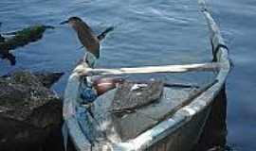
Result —
[{"label": "large dark grey rock beside the boat's left side", "polygon": [[[49,86],[49,85],[47,85]],[[37,76],[14,72],[0,77],[0,150],[46,150],[61,146],[62,101]]]}]

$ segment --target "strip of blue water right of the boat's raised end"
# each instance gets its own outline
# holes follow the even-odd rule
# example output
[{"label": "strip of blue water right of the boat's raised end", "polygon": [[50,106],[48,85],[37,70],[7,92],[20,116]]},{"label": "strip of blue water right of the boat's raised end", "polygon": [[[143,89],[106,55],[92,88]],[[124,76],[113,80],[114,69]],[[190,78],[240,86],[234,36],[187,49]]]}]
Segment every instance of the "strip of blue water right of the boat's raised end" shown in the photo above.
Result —
[{"label": "strip of blue water right of the boat's raised end", "polygon": [[228,141],[238,151],[256,150],[256,2],[210,2],[229,44],[234,69],[228,79]]}]

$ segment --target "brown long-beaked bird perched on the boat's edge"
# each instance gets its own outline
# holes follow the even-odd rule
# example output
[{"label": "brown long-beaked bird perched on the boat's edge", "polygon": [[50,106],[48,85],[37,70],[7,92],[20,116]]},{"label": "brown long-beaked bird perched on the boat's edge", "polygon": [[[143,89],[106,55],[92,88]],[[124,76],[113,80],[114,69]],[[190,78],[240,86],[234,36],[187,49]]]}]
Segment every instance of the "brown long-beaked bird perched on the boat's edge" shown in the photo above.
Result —
[{"label": "brown long-beaked bird perched on the boat's edge", "polygon": [[106,28],[99,36],[91,29],[89,25],[82,21],[81,18],[74,16],[60,23],[61,25],[71,25],[77,32],[78,38],[88,52],[93,54],[96,59],[100,58],[100,42],[106,34],[114,29],[113,26]]}]

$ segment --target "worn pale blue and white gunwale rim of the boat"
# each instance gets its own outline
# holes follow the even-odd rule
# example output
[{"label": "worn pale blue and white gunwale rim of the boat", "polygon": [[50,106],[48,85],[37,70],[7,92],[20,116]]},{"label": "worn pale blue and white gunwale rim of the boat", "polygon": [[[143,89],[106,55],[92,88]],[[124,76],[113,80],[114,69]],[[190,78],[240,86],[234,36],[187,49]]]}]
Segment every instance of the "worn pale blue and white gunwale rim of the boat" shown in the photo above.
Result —
[{"label": "worn pale blue and white gunwale rim of the boat", "polygon": [[[221,36],[218,25],[216,25],[210,15],[205,0],[198,0],[198,4],[209,26],[212,54],[215,54],[216,61],[222,64],[222,67],[215,78],[218,81],[206,92],[202,92],[201,95],[196,97],[192,103],[177,110],[171,118],[160,122],[129,142],[111,144],[113,150],[143,150],[150,147],[154,143],[157,143],[159,140],[170,135],[176,129],[189,123],[194,115],[199,114],[200,111],[209,107],[212,100],[223,88],[230,70],[229,50],[227,47],[219,46],[220,44],[225,45],[225,42]],[[216,50],[216,48],[218,50]],[[76,102],[74,102],[78,97],[78,89],[80,85],[81,73],[79,73],[79,71],[86,67],[87,65],[85,63],[76,67],[74,70],[75,72],[69,76],[64,92],[64,121],[68,128],[69,135],[78,151],[91,148],[90,143],[82,134],[78,120],[75,117]]]}]

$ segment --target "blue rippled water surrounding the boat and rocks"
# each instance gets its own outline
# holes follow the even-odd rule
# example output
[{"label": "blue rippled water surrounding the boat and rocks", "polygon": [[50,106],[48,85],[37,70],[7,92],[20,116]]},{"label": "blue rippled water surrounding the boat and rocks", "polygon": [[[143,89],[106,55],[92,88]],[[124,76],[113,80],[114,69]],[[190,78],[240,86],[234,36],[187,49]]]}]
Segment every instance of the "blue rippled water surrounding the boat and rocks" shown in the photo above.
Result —
[{"label": "blue rippled water surrounding the boat and rocks", "polygon": [[[209,1],[228,42],[235,64],[228,80],[228,144],[238,151],[256,149],[256,105],[253,77],[256,32],[253,0]],[[44,38],[13,51],[17,64],[0,60],[0,74],[16,68],[60,71],[64,77],[54,86],[62,93],[67,76],[82,58],[74,31],[60,22],[80,16],[96,33],[116,25],[101,43],[101,67],[203,62],[211,59],[208,29],[196,1],[165,0],[1,0],[1,32],[27,25],[56,25]],[[252,67],[252,69],[249,69]],[[182,79],[185,77],[182,77]]]}]

